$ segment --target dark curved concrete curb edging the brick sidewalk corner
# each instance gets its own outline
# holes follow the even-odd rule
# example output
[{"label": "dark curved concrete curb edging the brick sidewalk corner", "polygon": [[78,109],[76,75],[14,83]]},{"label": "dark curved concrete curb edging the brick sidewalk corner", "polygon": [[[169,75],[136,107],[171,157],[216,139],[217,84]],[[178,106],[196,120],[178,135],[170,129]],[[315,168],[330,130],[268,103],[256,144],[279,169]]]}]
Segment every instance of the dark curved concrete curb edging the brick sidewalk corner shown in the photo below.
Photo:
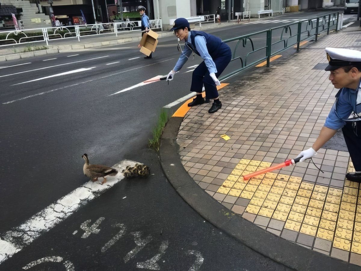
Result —
[{"label": "dark curved concrete curb edging the brick sidewalk corner", "polygon": [[168,181],[195,211],[242,244],[295,270],[360,270],[359,266],[303,248],[233,214],[210,197],[184,169],[177,134],[182,117],[172,117],[162,134],[160,163]]}]

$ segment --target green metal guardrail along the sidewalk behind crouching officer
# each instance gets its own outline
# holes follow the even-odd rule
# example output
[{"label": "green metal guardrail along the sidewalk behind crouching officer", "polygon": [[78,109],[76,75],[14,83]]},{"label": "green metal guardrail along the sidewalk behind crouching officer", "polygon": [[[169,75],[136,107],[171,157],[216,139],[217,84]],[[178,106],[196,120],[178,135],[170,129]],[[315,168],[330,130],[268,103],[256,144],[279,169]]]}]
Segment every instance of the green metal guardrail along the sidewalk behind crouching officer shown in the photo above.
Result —
[{"label": "green metal guardrail along the sidewalk behind crouching officer", "polygon": [[[314,21],[316,21],[316,26],[314,26]],[[219,80],[224,80],[226,78],[229,78],[229,77],[241,72],[242,70],[247,69],[253,65],[259,64],[265,60],[267,61],[267,67],[269,67],[270,66],[270,58],[272,56],[274,56],[277,53],[280,53],[284,50],[287,50],[288,48],[295,46],[296,44],[297,44],[297,52],[298,52],[300,50],[300,43],[303,42],[304,40],[314,38],[315,41],[317,41],[319,34],[327,31],[327,35],[328,35],[330,33],[331,29],[338,30],[337,29],[338,22],[339,22],[339,12],[335,12],[335,13],[326,14],[321,17],[314,17],[314,18],[302,20],[299,22],[291,23],[289,25],[274,27],[274,28],[271,28],[268,30],[263,30],[263,31],[259,31],[256,33],[252,33],[252,34],[239,36],[237,38],[223,40],[223,42],[225,42],[225,43],[234,42],[234,41],[238,40],[238,42],[235,46],[235,49],[233,51],[231,61],[235,61],[235,60],[239,59],[241,61],[242,67],[240,69],[237,69],[237,70],[219,78]],[[295,35],[292,35],[291,26],[293,26],[293,25],[297,25],[297,34],[295,34]],[[272,43],[272,34],[274,33],[275,30],[279,30],[279,29],[282,29],[280,40]],[[252,37],[263,34],[263,33],[266,33],[266,46],[255,49],[253,41],[252,41]],[[288,34],[287,38],[284,38],[285,34]],[[292,42],[292,39],[295,39],[296,41]],[[252,51],[247,53],[247,55],[245,56],[244,59],[241,56],[236,57],[236,52],[237,52],[237,48],[239,47],[239,44],[242,42],[242,46],[245,48],[247,45],[247,40],[249,40],[249,42],[251,43]],[[279,43],[280,44],[283,43],[283,48],[272,53],[272,46],[275,46],[276,44],[279,44]],[[256,61],[254,61],[251,64],[247,64],[247,58],[249,56],[251,56],[253,53],[261,51],[261,50],[266,50],[266,55]]]}]

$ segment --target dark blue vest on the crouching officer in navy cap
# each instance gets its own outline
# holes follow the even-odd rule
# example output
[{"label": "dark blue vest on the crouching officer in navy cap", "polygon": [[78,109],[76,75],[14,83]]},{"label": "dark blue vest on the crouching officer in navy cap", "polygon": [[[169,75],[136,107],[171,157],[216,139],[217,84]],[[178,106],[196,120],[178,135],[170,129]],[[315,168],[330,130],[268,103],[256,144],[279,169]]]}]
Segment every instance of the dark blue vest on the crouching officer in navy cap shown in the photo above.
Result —
[{"label": "dark blue vest on the crouching officer in navy cap", "polygon": [[196,49],[196,44],[194,42],[194,38],[198,35],[200,36],[204,36],[205,41],[206,41],[206,46],[207,46],[207,50],[208,53],[210,55],[210,57],[216,57],[218,55],[223,55],[224,53],[226,53],[225,51],[231,51],[231,49],[229,48],[229,46],[222,42],[222,40],[216,36],[210,35],[208,33],[205,33],[203,31],[196,31],[196,30],[191,30],[192,34],[191,34],[191,43],[193,48],[195,49],[194,52],[199,55],[199,52]]}]

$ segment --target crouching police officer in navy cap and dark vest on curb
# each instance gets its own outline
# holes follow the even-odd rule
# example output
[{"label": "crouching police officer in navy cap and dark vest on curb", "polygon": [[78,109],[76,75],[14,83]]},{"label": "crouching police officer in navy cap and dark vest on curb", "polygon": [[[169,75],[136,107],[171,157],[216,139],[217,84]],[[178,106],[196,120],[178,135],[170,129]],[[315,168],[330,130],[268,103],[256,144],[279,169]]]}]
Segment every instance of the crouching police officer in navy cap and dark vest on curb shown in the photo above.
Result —
[{"label": "crouching police officer in navy cap and dark vest on curb", "polygon": [[188,103],[188,106],[197,106],[205,102],[202,97],[202,87],[204,85],[206,100],[214,100],[208,112],[217,112],[222,107],[216,87],[221,83],[217,77],[231,61],[231,48],[216,36],[203,31],[191,30],[189,22],[185,18],[175,20],[173,28],[170,30],[174,31],[179,40],[185,40],[185,44],[177,64],[167,76],[167,81],[173,80],[174,74],[183,67],[192,52],[193,58],[194,53],[196,53],[202,57],[203,62],[193,70],[191,91],[195,91],[197,95],[193,102]]}]

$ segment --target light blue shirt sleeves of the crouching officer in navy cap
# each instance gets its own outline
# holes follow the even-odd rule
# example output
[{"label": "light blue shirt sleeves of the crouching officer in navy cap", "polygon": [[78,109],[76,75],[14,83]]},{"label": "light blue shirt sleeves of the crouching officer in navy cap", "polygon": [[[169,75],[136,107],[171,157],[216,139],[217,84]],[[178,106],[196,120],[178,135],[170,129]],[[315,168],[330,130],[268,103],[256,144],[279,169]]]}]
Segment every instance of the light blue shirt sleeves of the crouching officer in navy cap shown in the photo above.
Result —
[{"label": "light blue shirt sleeves of the crouching officer in navy cap", "polygon": [[182,69],[183,65],[187,62],[188,57],[190,57],[191,53],[198,52],[202,59],[204,60],[205,65],[208,68],[209,73],[217,73],[216,64],[214,64],[212,57],[210,57],[206,45],[206,40],[204,36],[197,35],[194,38],[194,43],[196,44],[196,48],[193,48],[192,43],[188,42],[188,40],[191,40],[191,33],[192,31],[189,31],[188,38],[186,40],[186,43],[184,44],[184,49],[182,51],[181,56],[179,57],[177,64],[174,66],[174,71],[178,72],[180,69]]}]

